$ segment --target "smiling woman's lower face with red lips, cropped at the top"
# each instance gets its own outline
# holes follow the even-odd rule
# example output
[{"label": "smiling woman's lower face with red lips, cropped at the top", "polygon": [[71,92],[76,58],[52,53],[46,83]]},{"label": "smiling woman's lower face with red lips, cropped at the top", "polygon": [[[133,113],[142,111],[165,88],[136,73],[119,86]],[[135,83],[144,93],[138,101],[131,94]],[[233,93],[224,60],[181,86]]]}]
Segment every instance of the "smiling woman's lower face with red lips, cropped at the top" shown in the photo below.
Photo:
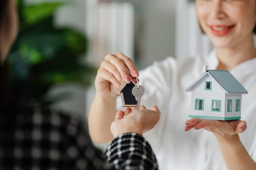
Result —
[{"label": "smiling woman's lower face with red lips, cropped at the top", "polygon": [[253,36],[256,0],[196,0],[196,11],[216,48],[236,47]]}]

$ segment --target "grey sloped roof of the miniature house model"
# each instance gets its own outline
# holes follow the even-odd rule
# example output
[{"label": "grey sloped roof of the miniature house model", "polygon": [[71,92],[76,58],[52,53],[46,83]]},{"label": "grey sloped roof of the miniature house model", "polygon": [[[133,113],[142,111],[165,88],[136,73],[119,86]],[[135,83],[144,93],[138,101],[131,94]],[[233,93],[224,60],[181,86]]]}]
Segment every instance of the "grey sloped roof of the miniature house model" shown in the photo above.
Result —
[{"label": "grey sloped roof of the miniature house model", "polygon": [[206,70],[186,91],[192,91],[206,76],[211,76],[226,93],[247,94],[247,90],[236,80],[228,70]]}]

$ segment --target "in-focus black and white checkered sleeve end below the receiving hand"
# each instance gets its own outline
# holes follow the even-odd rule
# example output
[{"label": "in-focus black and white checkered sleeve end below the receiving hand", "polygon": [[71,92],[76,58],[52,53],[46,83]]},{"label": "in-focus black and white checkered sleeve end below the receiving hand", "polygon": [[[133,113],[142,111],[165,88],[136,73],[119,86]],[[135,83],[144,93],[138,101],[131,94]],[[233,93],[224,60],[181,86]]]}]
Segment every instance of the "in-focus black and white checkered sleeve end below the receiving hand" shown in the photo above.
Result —
[{"label": "in-focus black and white checkered sleeve end below the receiving hand", "polygon": [[146,139],[136,133],[116,137],[106,150],[107,163],[117,170],[158,170],[158,163]]}]

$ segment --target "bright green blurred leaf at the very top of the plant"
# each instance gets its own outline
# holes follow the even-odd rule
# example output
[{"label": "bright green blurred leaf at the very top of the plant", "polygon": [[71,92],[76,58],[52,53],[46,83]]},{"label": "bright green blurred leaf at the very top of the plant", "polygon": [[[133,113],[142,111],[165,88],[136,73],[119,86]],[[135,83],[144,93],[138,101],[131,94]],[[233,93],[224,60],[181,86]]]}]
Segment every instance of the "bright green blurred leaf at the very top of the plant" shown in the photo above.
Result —
[{"label": "bright green blurred leaf at the very top of the plant", "polygon": [[39,20],[50,17],[63,2],[41,2],[25,6],[22,10],[22,16],[26,24],[33,25]]}]

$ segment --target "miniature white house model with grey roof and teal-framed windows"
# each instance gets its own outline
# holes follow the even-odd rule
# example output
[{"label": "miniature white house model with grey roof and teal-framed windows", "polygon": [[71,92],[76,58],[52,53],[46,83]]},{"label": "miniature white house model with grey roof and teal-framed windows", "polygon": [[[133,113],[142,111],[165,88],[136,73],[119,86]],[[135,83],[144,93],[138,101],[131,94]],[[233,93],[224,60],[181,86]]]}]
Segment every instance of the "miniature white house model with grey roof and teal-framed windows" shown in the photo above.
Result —
[{"label": "miniature white house model with grey roof and teal-framed windows", "polygon": [[186,91],[192,92],[191,118],[241,119],[242,94],[247,90],[228,70],[208,70]]}]

